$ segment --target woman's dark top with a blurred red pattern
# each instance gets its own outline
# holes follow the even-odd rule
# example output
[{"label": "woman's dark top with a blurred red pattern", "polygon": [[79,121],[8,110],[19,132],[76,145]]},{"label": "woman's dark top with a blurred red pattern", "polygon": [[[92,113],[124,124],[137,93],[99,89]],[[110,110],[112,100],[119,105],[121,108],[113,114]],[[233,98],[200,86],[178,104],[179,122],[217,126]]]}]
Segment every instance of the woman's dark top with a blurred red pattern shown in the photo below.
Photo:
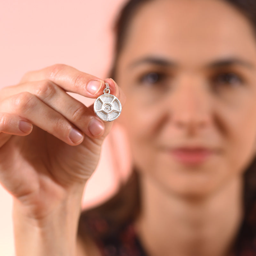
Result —
[{"label": "woman's dark top with a blurred red pattern", "polygon": [[[256,215],[254,215],[254,218]],[[139,237],[137,236],[132,222],[127,223],[118,233],[105,238],[104,234],[109,229],[106,220],[99,216],[90,216],[87,219],[87,230],[97,244],[102,256],[147,256]],[[250,237],[250,230],[245,221],[242,223],[237,235],[236,243],[229,256],[256,256],[256,237]],[[101,237],[99,239],[99,237]]]}]

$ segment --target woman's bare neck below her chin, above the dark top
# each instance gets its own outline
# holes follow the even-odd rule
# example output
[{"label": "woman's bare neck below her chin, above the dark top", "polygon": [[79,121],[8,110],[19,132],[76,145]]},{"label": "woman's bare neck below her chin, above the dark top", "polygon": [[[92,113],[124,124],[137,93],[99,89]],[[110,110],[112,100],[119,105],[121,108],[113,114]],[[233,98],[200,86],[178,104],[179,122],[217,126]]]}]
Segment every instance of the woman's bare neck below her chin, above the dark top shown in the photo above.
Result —
[{"label": "woman's bare neck below her chin, above the dark top", "polygon": [[141,178],[142,211],[135,227],[150,256],[228,255],[243,218],[242,177],[197,202]]}]

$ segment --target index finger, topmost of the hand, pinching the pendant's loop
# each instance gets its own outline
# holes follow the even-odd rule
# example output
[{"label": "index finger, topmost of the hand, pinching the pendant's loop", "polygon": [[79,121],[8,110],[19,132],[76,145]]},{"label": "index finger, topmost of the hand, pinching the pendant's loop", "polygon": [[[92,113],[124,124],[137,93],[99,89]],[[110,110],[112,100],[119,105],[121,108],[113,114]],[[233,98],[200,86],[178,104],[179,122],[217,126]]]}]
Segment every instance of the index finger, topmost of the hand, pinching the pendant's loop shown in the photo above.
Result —
[{"label": "index finger, topmost of the hand, pinching the pendant's loop", "polygon": [[[41,70],[30,71],[21,79],[21,83],[50,80],[66,92],[74,92],[88,98],[97,98],[102,94],[105,83],[102,79],[81,72],[64,64],[56,64]],[[110,88],[115,92],[115,87]]]}]

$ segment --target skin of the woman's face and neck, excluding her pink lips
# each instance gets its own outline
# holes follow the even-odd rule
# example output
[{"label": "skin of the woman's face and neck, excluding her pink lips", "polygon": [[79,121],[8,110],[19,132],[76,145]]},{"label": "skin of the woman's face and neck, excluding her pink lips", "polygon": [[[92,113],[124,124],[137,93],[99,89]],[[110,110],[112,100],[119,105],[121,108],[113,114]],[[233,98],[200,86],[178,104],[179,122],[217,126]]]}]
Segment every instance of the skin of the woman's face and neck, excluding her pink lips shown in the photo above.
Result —
[{"label": "skin of the woman's face and neck, excluding her pink lips", "polygon": [[[141,61],[149,57],[176,66]],[[246,64],[211,65],[234,58]],[[127,97],[119,121],[142,176],[137,230],[149,255],[227,255],[255,156],[255,67],[252,26],[224,1],[152,1],[136,12],[116,81]],[[183,145],[212,154],[183,164],[172,154]]]}]

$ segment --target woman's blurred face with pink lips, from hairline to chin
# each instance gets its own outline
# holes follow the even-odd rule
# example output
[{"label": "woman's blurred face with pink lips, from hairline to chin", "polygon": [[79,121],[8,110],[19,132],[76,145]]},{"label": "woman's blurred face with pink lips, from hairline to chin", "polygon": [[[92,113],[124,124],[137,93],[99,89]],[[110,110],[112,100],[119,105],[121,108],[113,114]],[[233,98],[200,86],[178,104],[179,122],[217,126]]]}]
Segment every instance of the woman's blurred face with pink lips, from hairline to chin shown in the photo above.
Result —
[{"label": "woman's blurred face with pink lips, from hairline to chin", "polygon": [[255,155],[256,39],[218,0],[141,6],[119,55],[119,117],[138,170],[170,192],[205,196]]}]

